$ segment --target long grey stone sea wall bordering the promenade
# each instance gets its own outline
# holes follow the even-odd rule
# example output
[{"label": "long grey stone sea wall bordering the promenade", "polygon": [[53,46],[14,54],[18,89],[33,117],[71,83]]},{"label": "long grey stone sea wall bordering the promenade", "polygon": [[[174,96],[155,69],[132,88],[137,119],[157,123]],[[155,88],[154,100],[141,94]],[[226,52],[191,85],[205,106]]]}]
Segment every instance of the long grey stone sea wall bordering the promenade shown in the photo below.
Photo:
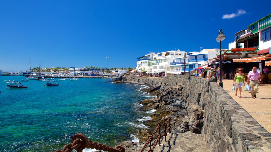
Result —
[{"label": "long grey stone sea wall bordering the promenade", "polygon": [[147,85],[161,85],[161,90],[181,88],[186,108],[204,110],[202,133],[210,151],[271,151],[271,134],[223,90],[214,79],[169,75],[163,78],[122,77]]}]

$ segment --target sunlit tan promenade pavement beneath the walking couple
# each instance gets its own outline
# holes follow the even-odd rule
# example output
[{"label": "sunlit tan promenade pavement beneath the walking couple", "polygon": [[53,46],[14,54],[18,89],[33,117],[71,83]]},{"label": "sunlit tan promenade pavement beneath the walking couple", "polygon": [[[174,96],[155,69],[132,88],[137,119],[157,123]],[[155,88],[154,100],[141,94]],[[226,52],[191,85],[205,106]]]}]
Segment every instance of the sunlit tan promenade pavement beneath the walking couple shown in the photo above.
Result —
[{"label": "sunlit tan promenade pavement beneath the walking couple", "polygon": [[[257,98],[252,99],[250,91],[242,88],[241,97],[239,98],[239,90],[237,97],[235,91],[232,91],[233,80],[222,80],[223,89],[240,104],[257,122],[262,125],[269,133],[271,133],[271,84],[263,84],[259,86]],[[219,81],[217,81],[219,83]]]}]

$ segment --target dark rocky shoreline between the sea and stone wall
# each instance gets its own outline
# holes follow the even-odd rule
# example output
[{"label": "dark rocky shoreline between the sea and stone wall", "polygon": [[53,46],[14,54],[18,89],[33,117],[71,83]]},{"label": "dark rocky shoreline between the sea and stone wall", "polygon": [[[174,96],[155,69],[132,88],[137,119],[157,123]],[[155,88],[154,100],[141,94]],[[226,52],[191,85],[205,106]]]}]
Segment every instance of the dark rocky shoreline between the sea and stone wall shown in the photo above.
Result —
[{"label": "dark rocky shoreline between the sea and stone wall", "polygon": [[[123,81],[114,81],[115,83],[124,83]],[[146,85],[142,82],[134,82],[129,81],[125,83],[130,84],[137,84],[137,85]],[[148,85],[147,85],[148,86]],[[149,86],[150,87],[150,86]],[[142,90],[144,91],[144,90]],[[157,127],[158,123],[165,123],[167,118],[171,118],[171,131],[172,132],[180,132],[183,133],[185,131],[189,131],[190,128],[193,130],[197,130],[197,127],[192,127],[193,123],[189,121],[188,118],[188,104],[186,103],[187,94],[183,92],[183,87],[180,85],[176,85],[171,89],[167,89],[162,91],[156,90],[149,92],[151,95],[157,96],[157,98],[152,99],[145,99],[139,102],[139,104],[143,104],[144,106],[139,108],[140,111],[150,111],[155,109],[153,113],[151,113],[150,117],[151,120],[144,121],[143,124],[149,126],[149,129],[143,129],[137,132],[136,137],[139,138],[138,143],[134,143],[132,141],[123,141],[120,145],[125,147],[127,152],[138,152],[141,150],[143,145],[147,141],[147,137],[153,133],[154,129]],[[200,111],[197,108],[190,108],[193,109],[193,113],[195,111]],[[201,120],[202,120],[201,114]],[[200,116],[196,117],[196,121],[200,118]],[[203,121],[201,122],[203,123]],[[191,126],[189,126],[189,124]],[[198,123],[200,125],[200,122]],[[201,133],[201,128],[198,133]]]}]

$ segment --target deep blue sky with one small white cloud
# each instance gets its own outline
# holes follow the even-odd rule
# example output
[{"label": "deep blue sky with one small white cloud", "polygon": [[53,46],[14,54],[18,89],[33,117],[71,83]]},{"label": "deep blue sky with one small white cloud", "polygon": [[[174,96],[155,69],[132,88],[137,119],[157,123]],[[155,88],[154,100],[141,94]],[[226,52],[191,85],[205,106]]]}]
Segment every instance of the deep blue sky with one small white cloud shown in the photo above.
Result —
[{"label": "deep blue sky with one small white cloud", "polygon": [[[254,5],[255,4],[255,5]],[[136,67],[149,52],[222,48],[271,1],[0,0],[0,69]]]}]

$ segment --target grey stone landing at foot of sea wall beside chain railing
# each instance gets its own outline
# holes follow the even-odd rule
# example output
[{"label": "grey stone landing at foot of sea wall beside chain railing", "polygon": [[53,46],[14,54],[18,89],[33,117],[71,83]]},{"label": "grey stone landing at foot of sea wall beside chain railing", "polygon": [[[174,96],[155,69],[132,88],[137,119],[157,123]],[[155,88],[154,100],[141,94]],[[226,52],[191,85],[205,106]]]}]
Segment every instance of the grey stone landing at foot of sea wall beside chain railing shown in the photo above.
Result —
[{"label": "grey stone landing at foot of sea wall beside chain railing", "polygon": [[166,141],[161,139],[160,146],[154,149],[154,152],[207,152],[205,135],[194,134],[190,131],[185,133],[171,133],[167,134]]}]

